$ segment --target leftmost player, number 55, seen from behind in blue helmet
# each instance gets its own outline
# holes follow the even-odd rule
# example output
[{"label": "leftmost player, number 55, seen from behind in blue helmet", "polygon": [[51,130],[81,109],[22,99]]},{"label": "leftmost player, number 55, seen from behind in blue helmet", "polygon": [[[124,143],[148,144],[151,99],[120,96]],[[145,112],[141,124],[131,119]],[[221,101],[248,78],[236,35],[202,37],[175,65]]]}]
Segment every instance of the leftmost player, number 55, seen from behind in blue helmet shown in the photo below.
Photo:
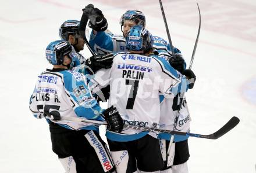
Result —
[{"label": "leftmost player, number 55, seen from behind in blue helmet", "polygon": [[123,128],[123,120],[118,111],[113,106],[102,110],[91,95],[86,77],[69,70],[73,54],[68,42],[49,43],[46,58],[54,68],[38,76],[29,107],[35,117],[47,118],[52,150],[66,172],[115,171],[106,145],[98,134],[98,127],[90,123],[70,122],[68,118],[78,116],[106,120],[109,131],[119,132]]}]

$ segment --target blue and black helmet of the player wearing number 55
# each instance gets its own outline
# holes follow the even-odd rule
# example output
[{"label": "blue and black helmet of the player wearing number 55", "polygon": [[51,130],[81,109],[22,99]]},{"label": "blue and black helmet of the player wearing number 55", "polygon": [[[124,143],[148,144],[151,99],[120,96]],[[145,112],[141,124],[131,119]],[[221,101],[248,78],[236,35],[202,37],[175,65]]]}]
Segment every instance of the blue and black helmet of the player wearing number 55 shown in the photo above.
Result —
[{"label": "blue and black helmet of the player wearing number 55", "polygon": [[46,58],[52,65],[61,65],[63,58],[68,55],[73,60],[72,46],[67,41],[54,41],[49,43],[45,50]]}]

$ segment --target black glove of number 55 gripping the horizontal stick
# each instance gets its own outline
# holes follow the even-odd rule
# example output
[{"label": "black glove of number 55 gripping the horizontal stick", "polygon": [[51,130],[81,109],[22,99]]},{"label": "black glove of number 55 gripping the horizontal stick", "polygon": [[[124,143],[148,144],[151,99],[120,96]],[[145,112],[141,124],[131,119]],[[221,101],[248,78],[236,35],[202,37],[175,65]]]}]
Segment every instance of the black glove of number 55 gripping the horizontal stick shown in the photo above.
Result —
[{"label": "black glove of number 55 gripping the horizontal stick", "polygon": [[115,107],[111,106],[106,109],[103,115],[108,123],[107,129],[109,131],[121,132],[123,130],[123,119]]}]

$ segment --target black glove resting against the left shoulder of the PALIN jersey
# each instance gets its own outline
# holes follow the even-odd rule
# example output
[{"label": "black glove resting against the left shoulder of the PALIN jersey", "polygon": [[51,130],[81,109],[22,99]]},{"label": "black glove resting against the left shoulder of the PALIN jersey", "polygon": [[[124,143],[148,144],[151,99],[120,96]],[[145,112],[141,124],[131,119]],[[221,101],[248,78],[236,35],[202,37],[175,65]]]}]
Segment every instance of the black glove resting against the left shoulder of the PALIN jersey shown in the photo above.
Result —
[{"label": "black glove resting against the left shoulder of the PALIN jersey", "polygon": [[113,58],[113,53],[98,54],[88,58],[86,60],[86,65],[95,73],[101,68],[111,68]]}]

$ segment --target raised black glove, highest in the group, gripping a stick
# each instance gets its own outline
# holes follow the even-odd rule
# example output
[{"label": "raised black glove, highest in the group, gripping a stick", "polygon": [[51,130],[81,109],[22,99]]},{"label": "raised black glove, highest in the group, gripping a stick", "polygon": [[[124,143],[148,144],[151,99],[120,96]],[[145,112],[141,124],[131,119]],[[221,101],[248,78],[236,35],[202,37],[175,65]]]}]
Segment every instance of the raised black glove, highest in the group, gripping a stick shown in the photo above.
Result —
[{"label": "raised black glove, highest in the group, gripping a stick", "polygon": [[101,10],[94,8],[93,4],[87,5],[83,12],[90,19],[88,26],[95,31],[105,31],[108,28],[108,21],[105,19]]}]

